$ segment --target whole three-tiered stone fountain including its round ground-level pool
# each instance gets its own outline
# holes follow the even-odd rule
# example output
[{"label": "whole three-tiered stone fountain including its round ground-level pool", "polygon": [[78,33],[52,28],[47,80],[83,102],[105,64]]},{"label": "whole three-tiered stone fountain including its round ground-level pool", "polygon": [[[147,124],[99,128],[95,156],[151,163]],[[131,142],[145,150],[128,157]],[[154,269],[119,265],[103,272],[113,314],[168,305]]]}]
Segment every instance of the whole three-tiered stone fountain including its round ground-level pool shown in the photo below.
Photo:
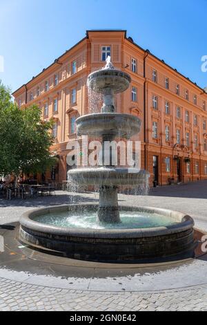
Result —
[{"label": "whole three-tiered stone fountain including its round ground-level pool", "polygon": [[[103,94],[101,113],[77,119],[78,136],[111,141],[139,133],[139,118],[116,113],[114,95],[126,91],[130,76],[106,67],[88,76],[88,86]],[[104,157],[104,155],[103,155]],[[119,186],[145,186],[146,171],[112,166],[77,168],[68,172],[72,183],[99,187],[99,204],[75,203],[37,209],[23,215],[19,239],[51,254],[92,261],[130,263],[193,257],[195,241],[190,216],[152,207],[129,207],[117,202]],[[137,198],[139,200],[139,198]]]}]

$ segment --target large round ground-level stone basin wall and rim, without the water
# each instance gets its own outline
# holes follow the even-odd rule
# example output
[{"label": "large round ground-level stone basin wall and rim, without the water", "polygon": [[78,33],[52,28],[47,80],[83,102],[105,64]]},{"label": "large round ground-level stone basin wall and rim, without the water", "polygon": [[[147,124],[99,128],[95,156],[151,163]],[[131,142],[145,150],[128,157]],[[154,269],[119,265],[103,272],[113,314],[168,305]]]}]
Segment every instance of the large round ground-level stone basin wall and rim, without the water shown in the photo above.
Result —
[{"label": "large round ground-level stone basin wall and rim, without the water", "polygon": [[121,211],[161,214],[171,225],[135,229],[68,228],[35,220],[46,214],[97,211],[97,205],[78,204],[41,208],[23,214],[19,240],[34,250],[72,259],[101,262],[153,263],[193,257],[194,221],[181,212],[152,207],[119,207]]}]

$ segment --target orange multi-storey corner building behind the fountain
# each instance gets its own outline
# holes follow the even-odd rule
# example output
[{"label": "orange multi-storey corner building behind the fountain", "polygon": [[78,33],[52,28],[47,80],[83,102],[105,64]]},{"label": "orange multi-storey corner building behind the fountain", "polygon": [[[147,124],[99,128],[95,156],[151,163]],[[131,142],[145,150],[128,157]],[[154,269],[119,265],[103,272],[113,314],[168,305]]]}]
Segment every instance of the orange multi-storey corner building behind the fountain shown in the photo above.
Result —
[{"label": "orange multi-storey corner building behind the fountain", "polygon": [[207,178],[207,93],[163,60],[126,36],[125,30],[91,30],[48,68],[13,95],[21,108],[38,104],[43,119],[53,118],[59,164],[43,178],[66,180],[66,145],[75,140],[75,120],[88,113],[88,74],[106,57],[132,77],[131,88],[117,95],[117,111],[142,122],[141,167],[159,185]]}]

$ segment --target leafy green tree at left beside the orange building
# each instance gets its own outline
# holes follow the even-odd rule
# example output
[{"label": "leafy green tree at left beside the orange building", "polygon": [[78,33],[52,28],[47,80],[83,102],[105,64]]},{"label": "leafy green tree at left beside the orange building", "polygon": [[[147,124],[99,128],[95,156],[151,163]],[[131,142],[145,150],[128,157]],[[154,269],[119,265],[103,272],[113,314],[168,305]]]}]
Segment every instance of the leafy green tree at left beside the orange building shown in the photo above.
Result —
[{"label": "leafy green tree at left beside the orange building", "polygon": [[33,105],[20,110],[10,89],[0,82],[0,174],[37,173],[55,165],[50,155],[52,122],[41,120]]}]

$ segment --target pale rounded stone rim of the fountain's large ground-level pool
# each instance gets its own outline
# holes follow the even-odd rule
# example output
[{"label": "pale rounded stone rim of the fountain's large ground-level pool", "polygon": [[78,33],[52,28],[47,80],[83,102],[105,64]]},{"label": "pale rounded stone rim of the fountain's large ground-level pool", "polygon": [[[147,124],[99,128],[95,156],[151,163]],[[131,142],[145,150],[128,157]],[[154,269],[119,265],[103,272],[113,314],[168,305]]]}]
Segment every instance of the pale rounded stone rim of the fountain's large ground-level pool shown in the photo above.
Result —
[{"label": "pale rounded stone rim of the fountain's large ground-level pool", "polygon": [[71,205],[56,205],[51,207],[43,207],[40,209],[30,210],[25,212],[20,219],[20,225],[23,228],[32,230],[34,232],[51,234],[52,236],[70,236],[70,237],[88,237],[88,238],[107,238],[107,239],[130,239],[130,238],[143,238],[143,237],[155,237],[155,236],[166,236],[170,234],[177,234],[180,232],[186,232],[192,230],[195,225],[193,219],[182,212],[173,210],[160,209],[157,207],[128,207],[127,205],[120,205],[120,210],[130,211],[142,211],[150,213],[159,213],[165,216],[169,216],[173,219],[177,219],[179,223],[175,225],[169,225],[167,227],[157,228],[137,228],[137,229],[121,229],[121,230],[101,230],[101,229],[86,229],[86,228],[69,228],[69,227],[57,227],[55,225],[46,225],[32,220],[35,216],[41,214],[48,214],[50,212],[63,212],[66,210],[89,208],[97,209],[98,205],[94,203],[75,203]]}]

